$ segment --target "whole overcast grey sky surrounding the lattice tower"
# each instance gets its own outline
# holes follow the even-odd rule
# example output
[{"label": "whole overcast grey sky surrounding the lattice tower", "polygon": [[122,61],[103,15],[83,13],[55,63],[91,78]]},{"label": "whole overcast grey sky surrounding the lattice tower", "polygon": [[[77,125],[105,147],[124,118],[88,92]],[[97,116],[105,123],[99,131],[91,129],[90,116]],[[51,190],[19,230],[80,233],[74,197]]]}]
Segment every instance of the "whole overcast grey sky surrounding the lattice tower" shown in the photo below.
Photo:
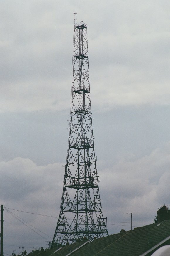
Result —
[{"label": "whole overcast grey sky surrounding the lattice tower", "polygon": [[[131,228],[122,213],[132,212],[133,228],[152,223],[158,207],[170,204],[170,1],[1,0],[0,7],[0,204],[60,213],[76,11],[88,25],[108,232]],[[45,234],[4,210],[5,255],[47,247],[55,218],[10,211]]]}]

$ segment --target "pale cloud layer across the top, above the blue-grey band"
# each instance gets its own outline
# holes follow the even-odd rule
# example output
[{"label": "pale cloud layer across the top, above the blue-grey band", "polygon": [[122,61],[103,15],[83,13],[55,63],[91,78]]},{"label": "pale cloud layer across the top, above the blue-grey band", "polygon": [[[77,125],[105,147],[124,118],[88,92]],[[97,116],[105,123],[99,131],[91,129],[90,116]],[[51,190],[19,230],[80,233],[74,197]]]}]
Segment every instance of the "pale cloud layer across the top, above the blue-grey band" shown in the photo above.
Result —
[{"label": "pale cloud layer across the top, above the blue-grey band", "polygon": [[[79,3],[79,10],[82,4]],[[18,2],[17,8],[13,9],[12,2],[3,4],[1,111],[47,110],[49,105],[51,110],[64,109],[65,102],[62,103],[60,98],[71,84],[72,67],[73,26],[69,8],[76,5],[76,1],[67,6],[62,1],[58,4],[43,1],[39,8],[39,3],[30,1],[27,5]],[[90,11],[84,9],[84,15],[89,22],[93,104],[100,108],[104,104],[108,108],[169,104],[169,31],[165,26],[168,19],[165,5],[157,4],[151,8],[147,2],[137,5],[134,1],[120,1],[111,3],[110,8],[105,4],[96,8],[89,1],[87,6],[91,6]],[[60,8],[66,8],[63,15]],[[64,91],[56,95],[61,83]],[[41,86],[46,86],[56,98],[47,101]],[[30,104],[25,106],[23,99],[30,100]],[[57,108],[52,105],[54,102],[58,103]]]}]

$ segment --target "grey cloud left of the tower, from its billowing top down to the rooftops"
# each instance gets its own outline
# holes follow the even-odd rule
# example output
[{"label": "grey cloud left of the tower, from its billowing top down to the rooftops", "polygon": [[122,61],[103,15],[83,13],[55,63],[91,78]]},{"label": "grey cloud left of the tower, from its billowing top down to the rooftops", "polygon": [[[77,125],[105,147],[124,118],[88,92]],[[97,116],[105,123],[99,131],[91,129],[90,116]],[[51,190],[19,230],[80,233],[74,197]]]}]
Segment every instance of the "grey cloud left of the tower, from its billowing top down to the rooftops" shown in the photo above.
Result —
[{"label": "grey cloud left of the tower, from its billowing top down to the rooftops", "polygon": [[[62,165],[61,163],[54,163],[37,166],[30,159],[21,157],[8,162],[0,162],[1,202],[7,208],[57,216],[60,210],[64,176]],[[15,244],[18,247],[24,244],[27,251],[31,251],[33,247],[46,247],[46,241],[52,239],[56,218],[40,217],[39,215],[17,212],[11,209],[9,211],[19,216],[22,222],[26,221],[24,223],[27,226],[44,238],[38,236],[4,210],[4,243]],[[43,231],[51,238],[33,227]]]}]

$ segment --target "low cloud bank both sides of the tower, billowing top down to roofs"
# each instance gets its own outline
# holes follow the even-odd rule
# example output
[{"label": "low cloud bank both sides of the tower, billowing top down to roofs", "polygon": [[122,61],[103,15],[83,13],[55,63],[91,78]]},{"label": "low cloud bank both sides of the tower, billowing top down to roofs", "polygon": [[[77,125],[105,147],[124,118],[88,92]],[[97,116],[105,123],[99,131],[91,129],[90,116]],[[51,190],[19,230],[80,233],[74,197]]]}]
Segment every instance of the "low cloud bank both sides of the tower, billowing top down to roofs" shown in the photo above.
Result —
[{"label": "low cloud bank both sides of the tower, billowing top down to roofs", "polygon": [[[7,208],[26,212],[30,212],[31,209],[31,212],[58,216],[64,179],[62,165],[62,163],[54,163],[37,166],[30,159],[20,157],[8,162],[2,161],[0,163],[1,202],[4,202]],[[104,216],[107,217],[110,234],[120,232],[123,228],[120,226],[122,223],[116,224],[116,222],[130,222],[130,219],[122,213],[132,212],[134,228],[144,225],[142,223],[152,223],[158,206],[169,203],[170,143],[167,143],[164,148],[156,148],[150,155],[135,161],[122,159],[111,168],[102,170],[100,163],[98,165],[102,209]],[[10,211],[49,237],[53,236],[56,219],[47,217],[44,222],[43,218],[46,217],[43,216]],[[12,225],[10,237],[5,237],[4,240],[6,244],[14,243],[15,240],[17,243],[18,237],[15,237],[15,234],[20,231],[23,233],[21,241],[25,246],[45,247],[44,240],[49,239],[47,235],[43,234],[44,238],[41,238],[6,211],[4,219],[6,234],[9,228],[11,229],[9,223]],[[130,223],[122,225],[127,226],[124,229],[130,229]],[[28,242],[26,242],[27,238]]]}]

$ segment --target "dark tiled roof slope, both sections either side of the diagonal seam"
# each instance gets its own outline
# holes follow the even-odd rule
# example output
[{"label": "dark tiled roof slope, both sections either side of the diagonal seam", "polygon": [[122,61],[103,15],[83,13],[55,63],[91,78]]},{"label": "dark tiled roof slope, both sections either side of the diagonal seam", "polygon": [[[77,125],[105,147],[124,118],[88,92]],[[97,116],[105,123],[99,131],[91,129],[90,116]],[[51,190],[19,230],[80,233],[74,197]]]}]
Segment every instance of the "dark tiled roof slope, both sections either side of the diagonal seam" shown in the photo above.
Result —
[{"label": "dark tiled roof slope, both sections either side of the diagonal seam", "polygon": [[135,228],[92,241],[73,252],[72,256],[144,256],[170,240],[170,221]]}]

